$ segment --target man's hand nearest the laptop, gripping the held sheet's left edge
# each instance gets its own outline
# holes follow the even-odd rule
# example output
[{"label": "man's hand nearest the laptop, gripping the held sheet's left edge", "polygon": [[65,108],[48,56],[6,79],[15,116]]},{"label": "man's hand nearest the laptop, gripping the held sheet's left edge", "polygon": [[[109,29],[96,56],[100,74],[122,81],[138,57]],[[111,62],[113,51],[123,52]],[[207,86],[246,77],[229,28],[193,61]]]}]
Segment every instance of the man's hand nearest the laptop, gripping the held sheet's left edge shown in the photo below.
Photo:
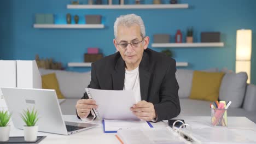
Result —
[{"label": "man's hand nearest the laptop, gripping the held sheet's left edge", "polygon": [[91,99],[80,99],[77,101],[75,108],[77,109],[77,115],[80,118],[88,117],[91,109],[97,109],[96,101]]}]

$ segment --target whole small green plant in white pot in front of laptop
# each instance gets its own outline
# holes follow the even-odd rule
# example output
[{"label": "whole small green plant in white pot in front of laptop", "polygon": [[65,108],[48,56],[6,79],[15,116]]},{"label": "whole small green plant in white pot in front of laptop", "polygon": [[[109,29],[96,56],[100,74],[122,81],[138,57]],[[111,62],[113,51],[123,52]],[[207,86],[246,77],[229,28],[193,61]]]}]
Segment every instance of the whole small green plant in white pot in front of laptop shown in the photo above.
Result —
[{"label": "whole small green plant in white pot in front of laptop", "polygon": [[36,141],[37,140],[37,131],[38,125],[36,125],[38,121],[38,112],[34,109],[26,111],[21,114],[21,118],[26,123],[24,125],[24,139],[25,141]]}]

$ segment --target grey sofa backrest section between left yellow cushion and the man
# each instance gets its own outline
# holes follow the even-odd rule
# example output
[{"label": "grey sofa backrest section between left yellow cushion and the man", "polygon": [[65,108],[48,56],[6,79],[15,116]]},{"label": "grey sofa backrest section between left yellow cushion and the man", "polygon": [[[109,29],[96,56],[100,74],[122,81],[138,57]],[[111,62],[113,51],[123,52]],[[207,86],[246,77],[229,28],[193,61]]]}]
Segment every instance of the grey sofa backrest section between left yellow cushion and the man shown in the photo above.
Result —
[{"label": "grey sofa backrest section between left yellow cushion and the man", "polygon": [[59,81],[60,90],[66,98],[82,98],[85,88],[91,81],[91,72],[77,73],[63,70],[39,69],[40,74],[55,73]]}]

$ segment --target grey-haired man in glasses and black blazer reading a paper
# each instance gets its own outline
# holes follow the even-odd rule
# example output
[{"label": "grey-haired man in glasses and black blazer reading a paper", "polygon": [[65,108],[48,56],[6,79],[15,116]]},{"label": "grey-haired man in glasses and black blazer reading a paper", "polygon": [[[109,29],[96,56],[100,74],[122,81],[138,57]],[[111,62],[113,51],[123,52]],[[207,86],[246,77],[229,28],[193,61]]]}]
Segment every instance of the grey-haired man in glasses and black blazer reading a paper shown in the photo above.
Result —
[{"label": "grey-haired man in glasses and black blazer reading a paper", "polygon": [[[118,52],[91,65],[88,87],[109,90],[132,90],[139,102],[131,111],[145,121],[162,121],[179,115],[176,61],[148,49],[149,37],[140,16],[122,15],[114,23],[113,40]],[[107,97],[107,96],[106,96]],[[97,101],[86,95],[75,106],[78,118],[88,117]]]}]

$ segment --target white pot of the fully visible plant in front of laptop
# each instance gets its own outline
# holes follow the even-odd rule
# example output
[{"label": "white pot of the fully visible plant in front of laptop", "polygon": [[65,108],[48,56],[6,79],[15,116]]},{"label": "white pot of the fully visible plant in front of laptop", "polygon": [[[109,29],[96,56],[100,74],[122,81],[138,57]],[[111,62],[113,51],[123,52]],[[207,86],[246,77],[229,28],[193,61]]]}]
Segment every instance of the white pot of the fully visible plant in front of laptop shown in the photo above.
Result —
[{"label": "white pot of the fully visible plant in front of laptop", "polygon": [[36,141],[37,140],[38,125],[33,127],[27,127],[24,125],[24,139],[25,141]]}]

